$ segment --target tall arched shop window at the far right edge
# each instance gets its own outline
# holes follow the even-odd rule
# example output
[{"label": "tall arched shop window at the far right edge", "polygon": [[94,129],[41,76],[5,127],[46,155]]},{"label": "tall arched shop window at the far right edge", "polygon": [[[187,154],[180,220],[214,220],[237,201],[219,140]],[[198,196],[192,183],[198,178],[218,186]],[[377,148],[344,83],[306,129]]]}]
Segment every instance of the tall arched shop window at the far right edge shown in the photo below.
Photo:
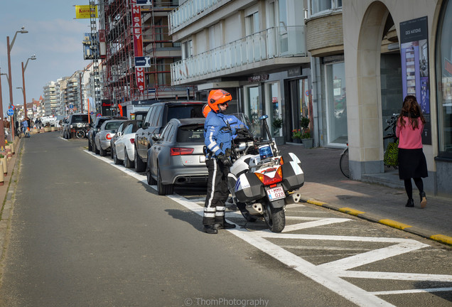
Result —
[{"label": "tall arched shop window at the far right edge", "polygon": [[436,39],[438,156],[452,158],[452,1],[442,12]]}]

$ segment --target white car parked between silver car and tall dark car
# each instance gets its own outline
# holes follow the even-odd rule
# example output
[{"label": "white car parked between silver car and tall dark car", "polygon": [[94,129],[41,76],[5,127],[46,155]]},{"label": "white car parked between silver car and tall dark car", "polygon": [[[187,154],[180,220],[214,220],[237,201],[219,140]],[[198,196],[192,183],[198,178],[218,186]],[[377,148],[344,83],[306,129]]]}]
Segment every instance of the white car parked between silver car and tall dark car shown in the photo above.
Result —
[{"label": "white car parked between silver car and tall dark car", "polygon": [[119,131],[118,129],[116,136],[112,139],[113,141],[116,138],[116,141],[114,141],[114,144],[112,145],[114,164],[119,164],[121,161],[124,161],[125,167],[134,167],[135,132],[141,128],[141,124],[143,124],[141,120],[127,121],[122,124],[124,127],[122,131]]}]

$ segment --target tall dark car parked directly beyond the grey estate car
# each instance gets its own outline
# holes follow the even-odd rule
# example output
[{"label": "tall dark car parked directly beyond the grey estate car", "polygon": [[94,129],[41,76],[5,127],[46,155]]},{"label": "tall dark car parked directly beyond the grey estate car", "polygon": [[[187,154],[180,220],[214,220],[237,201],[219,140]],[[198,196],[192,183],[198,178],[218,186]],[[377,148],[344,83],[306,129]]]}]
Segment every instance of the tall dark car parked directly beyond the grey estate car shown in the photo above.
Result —
[{"label": "tall dark car parked directly beyond the grey estate car", "polygon": [[205,102],[158,102],[152,104],[144,119],[141,129],[135,134],[135,171],[138,173],[146,170],[148,150],[154,141],[151,135],[160,134],[163,126],[171,119],[204,118],[203,106]]}]

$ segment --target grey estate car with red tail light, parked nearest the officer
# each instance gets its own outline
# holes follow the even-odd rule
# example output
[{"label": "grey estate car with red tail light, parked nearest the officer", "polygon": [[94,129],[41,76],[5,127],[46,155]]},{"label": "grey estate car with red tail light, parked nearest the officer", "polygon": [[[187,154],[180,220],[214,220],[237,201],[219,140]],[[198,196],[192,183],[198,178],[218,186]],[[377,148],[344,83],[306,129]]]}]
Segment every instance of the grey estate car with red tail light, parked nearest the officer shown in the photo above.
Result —
[{"label": "grey estate car with red tail light, parked nearest the officer", "polygon": [[204,122],[205,118],[171,119],[161,134],[152,136],[146,176],[149,185],[157,184],[158,195],[173,194],[174,185],[207,183]]}]

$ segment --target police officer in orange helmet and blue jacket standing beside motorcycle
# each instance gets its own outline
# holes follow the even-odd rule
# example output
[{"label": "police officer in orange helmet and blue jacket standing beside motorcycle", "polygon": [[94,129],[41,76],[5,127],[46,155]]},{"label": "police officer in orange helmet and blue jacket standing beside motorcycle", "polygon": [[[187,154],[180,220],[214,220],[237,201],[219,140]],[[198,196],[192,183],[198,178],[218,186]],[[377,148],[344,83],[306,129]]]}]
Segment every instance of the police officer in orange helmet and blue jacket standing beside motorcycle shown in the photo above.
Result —
[{"label": "police officer in orange helmet and blue jacket standing beside motorcycle", "polygon": [[208,96],[208,112],[204,124],[204,139],[207,148],[205,164],[208,167],[208,190],[205,197],[203,225],[204,232],[216,234],[220,229],[235,228],[225,221],[225,202],[229,196],[227,174],[232,161],[230,149],[232,133],[228,119],[223,112],[232,100],[229,92],[212,90]]}]

